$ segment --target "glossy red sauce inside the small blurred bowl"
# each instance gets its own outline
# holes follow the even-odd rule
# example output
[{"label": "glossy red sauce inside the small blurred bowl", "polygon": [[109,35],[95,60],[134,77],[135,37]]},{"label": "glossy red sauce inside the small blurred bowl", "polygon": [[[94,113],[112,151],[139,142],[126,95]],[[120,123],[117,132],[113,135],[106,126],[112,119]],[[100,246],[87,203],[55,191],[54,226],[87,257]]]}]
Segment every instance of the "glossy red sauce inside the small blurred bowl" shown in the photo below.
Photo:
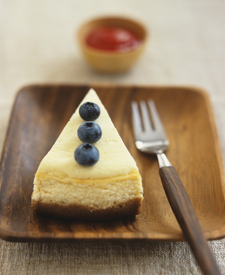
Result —
[{"label": "glossy red sauce inside the small blurred bowl", "polygon": [[91,31],[86,43],[99,50],[126,52],[140,44],[140,38],[131,31],[119,27],[99,27]]}]

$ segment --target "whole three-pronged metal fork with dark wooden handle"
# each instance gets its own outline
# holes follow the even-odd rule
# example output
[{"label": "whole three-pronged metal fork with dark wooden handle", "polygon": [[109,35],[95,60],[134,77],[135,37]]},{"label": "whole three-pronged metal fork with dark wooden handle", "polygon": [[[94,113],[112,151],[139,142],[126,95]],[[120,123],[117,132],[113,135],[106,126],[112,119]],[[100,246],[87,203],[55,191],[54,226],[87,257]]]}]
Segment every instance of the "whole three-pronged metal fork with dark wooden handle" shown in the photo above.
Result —
[{"label": "whole three-pronged metal fork with dark wooden handle", "polygon": [[147,103],[140,101],[140,112],[138,103],[131,103],[135,145],[141,152],[157,156],[165,194],[203,274],[220,274],[187,192],[175,168],[164,154],[169,141],[155,103],[153,100],[148,100]]}]

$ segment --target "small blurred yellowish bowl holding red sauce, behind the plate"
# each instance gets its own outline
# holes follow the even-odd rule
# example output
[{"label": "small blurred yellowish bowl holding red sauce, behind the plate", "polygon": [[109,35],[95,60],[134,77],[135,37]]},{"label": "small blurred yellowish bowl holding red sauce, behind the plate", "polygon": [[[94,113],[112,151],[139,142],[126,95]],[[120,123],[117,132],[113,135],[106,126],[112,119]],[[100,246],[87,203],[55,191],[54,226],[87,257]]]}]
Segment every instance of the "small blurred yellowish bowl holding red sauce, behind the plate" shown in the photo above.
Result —
[{"label": "small blurred yellowish bowl holding red sauce, behind the plate", "polygon": [[101,17],[78,30],[81,51],[99,72],[118,73],[130,69],[145,48],[146,28],[126,17]]}]

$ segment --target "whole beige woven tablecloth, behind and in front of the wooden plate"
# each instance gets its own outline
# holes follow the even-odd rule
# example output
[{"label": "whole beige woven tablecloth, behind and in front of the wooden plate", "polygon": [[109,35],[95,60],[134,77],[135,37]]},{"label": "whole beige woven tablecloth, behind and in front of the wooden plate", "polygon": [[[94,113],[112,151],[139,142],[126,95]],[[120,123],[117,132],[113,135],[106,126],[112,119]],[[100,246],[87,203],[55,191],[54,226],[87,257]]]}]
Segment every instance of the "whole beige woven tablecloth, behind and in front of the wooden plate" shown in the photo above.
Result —
[{"label": "whole beige woven tablecloth, behind and in front of the wooden plate", "polygon": [[[225,157],[225,2],[0,2],[0,150],[16,91],[32,83],[193,85],[213,103]],[[80,56],[74,31],[89,17],[120,13],[150,29],[145,55],[122,75],[93,72]],[[225,240],[210,248],[225,274]],[[0,241],[0,274],[200,274],[187,243],[10,243]]]}]

